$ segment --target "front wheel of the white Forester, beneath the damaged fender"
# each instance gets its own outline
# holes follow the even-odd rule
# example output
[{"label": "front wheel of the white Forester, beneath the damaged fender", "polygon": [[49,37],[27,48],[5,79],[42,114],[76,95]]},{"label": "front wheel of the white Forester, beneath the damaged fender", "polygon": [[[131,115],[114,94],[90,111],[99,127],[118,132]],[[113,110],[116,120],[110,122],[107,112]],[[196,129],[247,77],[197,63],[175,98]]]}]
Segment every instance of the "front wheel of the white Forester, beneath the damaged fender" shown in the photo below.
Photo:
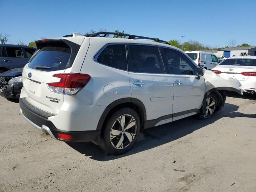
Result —
[{"label": "front wheel of the white Forester, beneath the damaged fender", "polygon": [[208,95],[206,98],[206,106],[205,106],[206,107],[206,115],[203,115],[201,113],[201,114],[198,114],[198,117],[200,119],[210,118],[216,111],[217,103],[218,103],[218,100],[214,93],[211,93],[210,95]]}]

